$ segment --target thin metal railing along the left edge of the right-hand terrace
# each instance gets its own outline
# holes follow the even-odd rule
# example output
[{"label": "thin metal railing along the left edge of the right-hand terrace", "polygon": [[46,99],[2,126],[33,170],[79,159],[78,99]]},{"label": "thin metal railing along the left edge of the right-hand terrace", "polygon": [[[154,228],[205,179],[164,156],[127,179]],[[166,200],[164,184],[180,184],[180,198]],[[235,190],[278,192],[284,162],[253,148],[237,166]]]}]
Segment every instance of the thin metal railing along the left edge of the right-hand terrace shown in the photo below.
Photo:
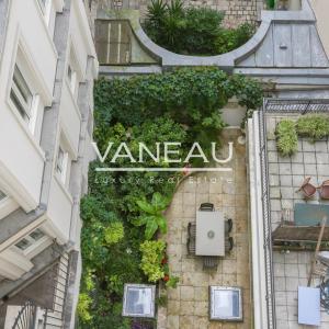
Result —
[{"label": "thin metal railing along the left edge of the right-hand terrace", "polygon": [[266,281],[266,309],[269,329],[276,328],[275,300],[274,300],[274,276],[272,261],[272,225],[269,192],[268,147],[266,147],[266,122],[264,110],[259,112],[260,134],[260,160],[262,175],[262,203],[264,216],[264,254],[265,254],[265,281]]}]

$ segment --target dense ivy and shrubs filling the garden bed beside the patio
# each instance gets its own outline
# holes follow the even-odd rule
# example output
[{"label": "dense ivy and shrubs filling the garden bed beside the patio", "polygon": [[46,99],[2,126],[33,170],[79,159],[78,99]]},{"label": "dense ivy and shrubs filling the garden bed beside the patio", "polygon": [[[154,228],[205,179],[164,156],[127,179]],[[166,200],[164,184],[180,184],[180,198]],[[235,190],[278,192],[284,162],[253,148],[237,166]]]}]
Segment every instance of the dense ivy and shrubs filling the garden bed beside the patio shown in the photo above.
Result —
[{"label": "dense ivy and shrubs filling the garden bed beside the patio", "polygon": [[[215,67],[128,79],[102,78],[94,88],[94,139],[101,151],[109,141],[125,141],[133,152],[138,141],[149,145],[151,151],[156,141],[180,141],[186,151],[194,140],[205,144],[218,139],[225,126],[220,109],[232,97],[253,110],[261,105],[262,90],[256,80],[229,76]],[[113,166],[109,161],[106,158],[105,164]],[[155,195],[171,200],[181,175],[97,172],[100,164],[95,161],[90,166],[89,193],[81,202],[79,328],[131,328],[129,319],[121,316],[124,284],[146,283],[157,276],[154,268],[141,261],[141,246],[147,245],[145,226],[135,225],[145,215],[140,200],[143,205],[152,203]],[[122,164],[120,160],[117,166]],[[157,167],[177,164],[160,161]],[[147,158],[144,166],[155,163]],[[162,260],[162,253],[161,249],[157,259]],[[167,272],[163,280],[170,280]],[[174,286],[178,279],[171,279]]]}]

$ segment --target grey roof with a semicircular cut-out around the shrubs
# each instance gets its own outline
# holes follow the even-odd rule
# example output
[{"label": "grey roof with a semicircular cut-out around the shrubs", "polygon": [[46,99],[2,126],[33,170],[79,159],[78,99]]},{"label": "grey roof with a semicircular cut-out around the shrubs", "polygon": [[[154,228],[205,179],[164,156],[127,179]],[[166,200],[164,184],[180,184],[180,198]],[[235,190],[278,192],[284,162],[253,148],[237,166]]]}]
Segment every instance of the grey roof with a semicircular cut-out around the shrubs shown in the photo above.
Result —
[{"label": "grey roof with a semicircular cut-out around the shrubs", "polygon": [[[185,56],[156,45],[139,24],[139,12],[134,10],[99,10],[98,19],[129,20],[139,52],[151,56],[157,72],[174,67],[217,66],[229,72],[253,76],[283,84],[329,84],[329,60],[316,26],[308,0],[302,0],[300,11],[262,11],[261,25],[253,37],[241,47],[218,56]],[[133,49],[134,50],[134,49]],[[147,66],[100,69],[104,76],[149,73]]]}]

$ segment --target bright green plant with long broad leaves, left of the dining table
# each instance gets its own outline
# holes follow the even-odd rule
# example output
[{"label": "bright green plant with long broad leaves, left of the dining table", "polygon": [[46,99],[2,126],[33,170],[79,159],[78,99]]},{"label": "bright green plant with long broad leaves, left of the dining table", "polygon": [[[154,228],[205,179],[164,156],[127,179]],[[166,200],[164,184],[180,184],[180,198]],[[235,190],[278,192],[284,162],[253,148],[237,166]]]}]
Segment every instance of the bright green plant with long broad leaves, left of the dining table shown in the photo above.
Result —
[{"label": "bright green plant with long broad leaves, left of the dining table", "polygon": [[146,226],[145,238],[150,240],[156,231],[160,229],[162,234],[167,232],[167,220],[163,216],[163,211],[169,205],[170,201],[156,192],[152,195],[151,202],[138,200],[137,205],[143,211],[143,214],[134,222],[136,226]]}]

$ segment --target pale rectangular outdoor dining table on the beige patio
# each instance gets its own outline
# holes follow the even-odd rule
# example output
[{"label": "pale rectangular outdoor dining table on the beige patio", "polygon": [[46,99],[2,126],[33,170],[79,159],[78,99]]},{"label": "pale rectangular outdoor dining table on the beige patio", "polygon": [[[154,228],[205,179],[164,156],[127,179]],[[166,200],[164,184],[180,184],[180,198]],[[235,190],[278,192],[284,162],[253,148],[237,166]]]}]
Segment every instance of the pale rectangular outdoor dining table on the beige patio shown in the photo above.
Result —
[{"label": "pale rectangular outdoor dining table on the beige patio", "polygon": [[195,254],[225,256],[225,220],[220,212],[196,212]]}]

